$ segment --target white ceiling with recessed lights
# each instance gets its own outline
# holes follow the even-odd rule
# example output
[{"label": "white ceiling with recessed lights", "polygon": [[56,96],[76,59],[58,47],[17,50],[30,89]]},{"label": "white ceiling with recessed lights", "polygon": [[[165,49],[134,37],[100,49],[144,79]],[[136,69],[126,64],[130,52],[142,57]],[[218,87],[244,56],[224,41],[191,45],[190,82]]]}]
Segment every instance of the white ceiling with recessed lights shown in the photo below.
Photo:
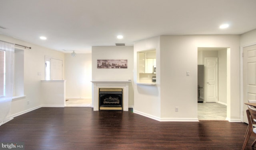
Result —
[{"label": "white ceiling with recessed lights", "polygon": [[[256,29],[255,6],[256,0],[0,0],[0,33],[91,53],[92,46],[158,35],[242,34]],[[230,27],[219,29],[222,23]]]}]

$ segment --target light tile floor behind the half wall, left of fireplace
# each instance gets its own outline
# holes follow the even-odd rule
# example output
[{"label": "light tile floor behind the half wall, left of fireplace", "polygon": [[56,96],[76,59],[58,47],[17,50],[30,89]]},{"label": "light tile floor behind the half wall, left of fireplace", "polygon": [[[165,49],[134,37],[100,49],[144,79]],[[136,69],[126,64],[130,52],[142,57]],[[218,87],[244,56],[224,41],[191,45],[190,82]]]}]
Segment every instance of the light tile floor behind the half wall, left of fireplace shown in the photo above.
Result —
[{"label": "light tile floor behind the half wall, left of fireplace", "polygon": [[66,99],[66,107],[92,107],[92,99]]}]

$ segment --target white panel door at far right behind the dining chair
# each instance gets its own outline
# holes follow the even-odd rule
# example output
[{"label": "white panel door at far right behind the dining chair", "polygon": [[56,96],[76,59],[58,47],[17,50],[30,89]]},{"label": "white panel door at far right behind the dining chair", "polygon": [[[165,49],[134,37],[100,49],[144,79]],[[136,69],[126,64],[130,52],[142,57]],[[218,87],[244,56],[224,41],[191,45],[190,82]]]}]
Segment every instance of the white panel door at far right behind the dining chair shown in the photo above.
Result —
[{"label": "white panel door at far right behind the dining chair", "polygon": [[[256,100],[256,45],[244,47],[243,55],[243,95],[244,103],[248,103],[248,99]],[[246,109],[244,105],[244,122],[248,123]]]}]

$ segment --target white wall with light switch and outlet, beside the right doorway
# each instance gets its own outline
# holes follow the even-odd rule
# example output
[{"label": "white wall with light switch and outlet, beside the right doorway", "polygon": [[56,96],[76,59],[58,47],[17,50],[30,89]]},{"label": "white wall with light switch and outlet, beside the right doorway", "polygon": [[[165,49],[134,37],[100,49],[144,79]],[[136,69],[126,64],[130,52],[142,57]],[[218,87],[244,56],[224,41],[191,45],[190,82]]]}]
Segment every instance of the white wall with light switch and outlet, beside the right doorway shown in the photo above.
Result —
[{"label": "white wall with light switch and outlet, beside the right doorway", "polygon": [[[193,39],[193,36],[161,36],[161,118],[198,120],[198,47]],[[186,76],[187,71],[190,76]]]}]

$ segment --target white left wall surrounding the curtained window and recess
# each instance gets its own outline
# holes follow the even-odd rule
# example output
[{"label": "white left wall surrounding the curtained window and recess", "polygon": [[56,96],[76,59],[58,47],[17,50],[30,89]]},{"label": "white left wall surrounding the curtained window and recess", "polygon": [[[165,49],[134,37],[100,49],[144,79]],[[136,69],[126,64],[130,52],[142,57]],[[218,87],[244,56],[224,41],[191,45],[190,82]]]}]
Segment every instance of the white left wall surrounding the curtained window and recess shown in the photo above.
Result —
[{"label": "white left wall surrounding the curtained window and recess", "polygon": [[[32,47],[24,50],[24,94],[26,98],[12,101],[11,115],[16,116],[40,107],[44,101],[41,99],[41,80],[44,80],[44,56],[52,56],[64,60],[64,53],[40,47],[32,43],[0,35],[0,40]],[[41,75],[38,75],[40,73]],[[29,101],[29,104],[27,104]]]}]

